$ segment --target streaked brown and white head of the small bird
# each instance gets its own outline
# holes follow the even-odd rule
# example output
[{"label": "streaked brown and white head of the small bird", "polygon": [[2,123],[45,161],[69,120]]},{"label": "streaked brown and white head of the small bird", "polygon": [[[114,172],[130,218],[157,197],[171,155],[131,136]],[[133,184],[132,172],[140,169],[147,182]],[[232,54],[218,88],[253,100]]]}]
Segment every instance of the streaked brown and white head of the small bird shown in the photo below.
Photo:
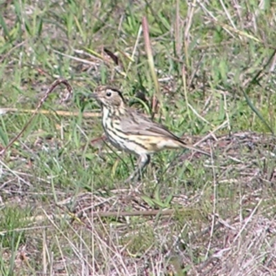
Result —
[{"label": "streaked brown and white head of the small bird", "polygon": [[125,105],[124,97],[121,92],[109,86],[99,86],[90,97],[96,99],[101,107],[110,110],[124,108]]}]

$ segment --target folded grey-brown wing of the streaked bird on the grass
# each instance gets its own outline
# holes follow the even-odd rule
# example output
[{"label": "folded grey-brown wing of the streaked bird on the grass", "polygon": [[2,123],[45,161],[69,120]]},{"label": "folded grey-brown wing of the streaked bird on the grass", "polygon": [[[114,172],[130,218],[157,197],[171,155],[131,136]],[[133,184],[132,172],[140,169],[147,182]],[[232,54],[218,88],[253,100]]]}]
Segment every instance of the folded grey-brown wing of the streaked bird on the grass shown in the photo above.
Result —
[{"label": "folded grey-brown wing of the streaked bird on the grass", "polygon": [[166,127],[138,112],[130,112],[121,118],[121,128],[130,135],[163,136],[179,140],[179,137],[173,135]]}]

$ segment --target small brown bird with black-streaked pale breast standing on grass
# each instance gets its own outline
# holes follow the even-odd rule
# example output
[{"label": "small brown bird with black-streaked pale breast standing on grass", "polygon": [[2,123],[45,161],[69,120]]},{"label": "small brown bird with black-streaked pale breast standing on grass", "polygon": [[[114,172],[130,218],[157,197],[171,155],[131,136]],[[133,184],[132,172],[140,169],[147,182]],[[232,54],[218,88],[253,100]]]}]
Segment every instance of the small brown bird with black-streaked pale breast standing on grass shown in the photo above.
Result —
[{"label": "small brown bird with black-streaked pale breast standing on grass", "polygon": [[130,108],[117,88],[98,86],[90,96],[101,107],[101,124],[110,143],[137,155],[137,167],[125,182],[137,181],[150,156],[165,149],[186,148],[210,157],[210,153],[186,144],[162,124]]}]

